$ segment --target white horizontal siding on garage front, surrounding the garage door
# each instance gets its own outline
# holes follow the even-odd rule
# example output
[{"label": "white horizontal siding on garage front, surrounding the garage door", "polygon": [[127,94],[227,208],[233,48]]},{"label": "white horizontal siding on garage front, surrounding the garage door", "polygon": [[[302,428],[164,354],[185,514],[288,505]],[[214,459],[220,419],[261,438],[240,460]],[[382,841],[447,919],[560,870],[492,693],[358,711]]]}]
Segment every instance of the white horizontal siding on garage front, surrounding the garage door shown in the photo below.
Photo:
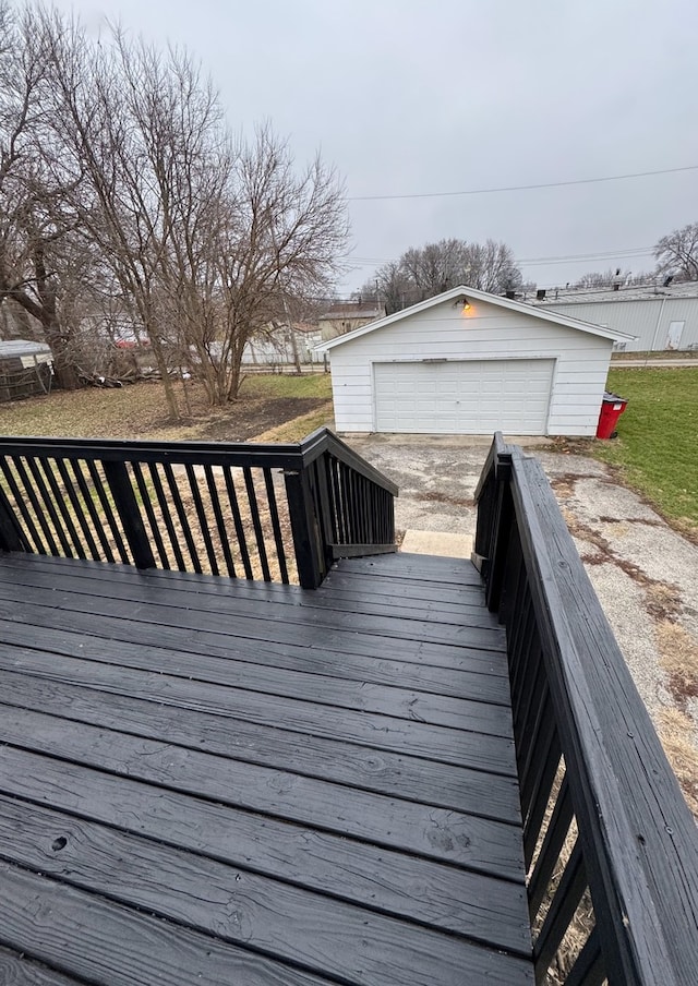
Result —
[{"label": "white horizontal siding on garage front, surrounding the garage door", "polygon": [[[498,305],[468,315],[450,301],[375,329],[330,351],[340,432],[376,430],[373,364],[405,360],[554,360],[545,433],[594,435],[612,342]],[[514,433],[514,432],[510,432]]]}]

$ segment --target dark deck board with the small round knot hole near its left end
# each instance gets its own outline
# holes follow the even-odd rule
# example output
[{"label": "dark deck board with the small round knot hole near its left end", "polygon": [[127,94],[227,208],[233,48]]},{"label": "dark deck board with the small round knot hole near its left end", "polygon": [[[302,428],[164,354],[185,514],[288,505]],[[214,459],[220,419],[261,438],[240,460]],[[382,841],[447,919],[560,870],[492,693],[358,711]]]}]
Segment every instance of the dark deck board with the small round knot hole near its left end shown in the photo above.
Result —
[{"label": "dark deck board with the small round knot hole near its left end", "polygon": [[[0,801],[0,834],[12,837],[13,859],[25,867],[57,879],[68,873],[72,885],[94,893],[100,891],[106,869],[109,895],[120,903],[320,974],[332,961],[341,979],[356,974],[354,942],[360,939],[362,962],[374,971],[358,982],[377,982],[375,970],[381,969],[383,984],[402,986],[404,925],[395,917],[56,811],[35,809],[27,816],[11,801]],[[59,850],[52,849],[57,831],[63,833]],[[433,976],[435,963],[446,960],[457,969],[459,961],[468,962],[462,943],[450,935],[413,926],[410,936],[418,982]]]}]

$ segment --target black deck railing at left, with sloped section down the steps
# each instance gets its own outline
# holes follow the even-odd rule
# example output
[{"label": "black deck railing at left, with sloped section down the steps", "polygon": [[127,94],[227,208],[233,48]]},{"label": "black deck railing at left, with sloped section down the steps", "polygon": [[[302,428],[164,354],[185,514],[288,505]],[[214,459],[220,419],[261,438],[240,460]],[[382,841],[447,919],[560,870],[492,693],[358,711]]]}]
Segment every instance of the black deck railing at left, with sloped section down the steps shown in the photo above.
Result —
[{"label": "black deck railing at left, with sloped section down the steps", "polygon": [[0,441],[0,550],[300,581],[395,551],[396,486],[327,429],[299,444]]}]

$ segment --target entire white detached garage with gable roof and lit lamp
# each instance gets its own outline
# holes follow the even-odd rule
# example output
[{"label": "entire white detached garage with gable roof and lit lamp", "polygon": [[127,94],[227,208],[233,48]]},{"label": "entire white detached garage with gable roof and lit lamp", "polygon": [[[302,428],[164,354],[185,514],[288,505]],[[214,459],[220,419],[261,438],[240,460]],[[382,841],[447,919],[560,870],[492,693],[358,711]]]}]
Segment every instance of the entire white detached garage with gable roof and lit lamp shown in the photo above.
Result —
[{"label": "entire white detached garage with gable roof and lit lamp", "polygon": [[623,338],[459,287],[321,348],[340,432],[594,435]]}]

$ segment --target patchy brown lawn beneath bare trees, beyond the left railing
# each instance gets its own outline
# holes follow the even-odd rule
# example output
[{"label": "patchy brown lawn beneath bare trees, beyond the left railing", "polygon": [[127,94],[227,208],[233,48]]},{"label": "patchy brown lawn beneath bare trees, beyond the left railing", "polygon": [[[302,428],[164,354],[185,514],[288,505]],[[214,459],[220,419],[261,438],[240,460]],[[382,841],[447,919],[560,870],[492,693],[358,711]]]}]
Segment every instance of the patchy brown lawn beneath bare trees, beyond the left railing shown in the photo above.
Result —
[{"label": "patchy brown lawn beneath bare trees, beyond the left railing", "polygon": [[[0,434],[163,442],[237,442],[264,434],[264,441],[297,442],[332,423],[329,374],[251,374],[240,399],[224,408],[208,406],[201,384],[180,382],[176,393],[182,411],[183,386],[192,413],[181,422],[169,420],[161,383],[149,382],[121,389],[57,390],[49,397],[2,404]],[[279,436],[274,434],[277,429],[282,429]]]}]

